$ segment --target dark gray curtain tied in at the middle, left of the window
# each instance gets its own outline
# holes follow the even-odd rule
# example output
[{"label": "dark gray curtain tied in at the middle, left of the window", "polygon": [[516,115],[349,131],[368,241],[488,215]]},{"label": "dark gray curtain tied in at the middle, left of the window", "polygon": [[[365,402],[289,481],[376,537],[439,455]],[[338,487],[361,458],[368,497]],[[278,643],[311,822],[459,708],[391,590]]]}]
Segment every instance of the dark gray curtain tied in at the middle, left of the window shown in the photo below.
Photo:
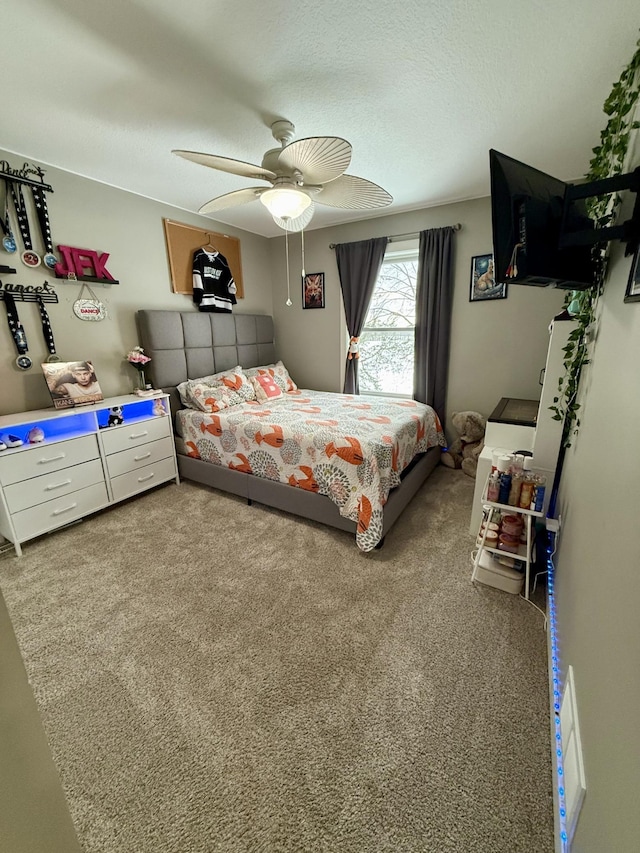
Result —
[{"label": "dark gray curtain tied in at the middle, left of the window", "polygon": [[[356,243],[336,245],[342,301],[351,339],[360,337],[387,242],[386,237],[376,237],[373,240],[359,240]],[[358,359],[355,357],[347,356],[343,393],[360,393]]]}]

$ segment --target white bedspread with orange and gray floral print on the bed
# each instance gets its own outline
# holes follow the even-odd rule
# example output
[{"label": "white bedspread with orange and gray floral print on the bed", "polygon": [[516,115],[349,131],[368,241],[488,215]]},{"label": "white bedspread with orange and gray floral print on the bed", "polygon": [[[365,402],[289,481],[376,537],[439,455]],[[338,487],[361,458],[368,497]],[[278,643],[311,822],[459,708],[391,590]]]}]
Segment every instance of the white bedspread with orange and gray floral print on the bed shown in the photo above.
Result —
[{"label": "white bedspread with orange and gray floral print on the bed", "polygon": [[357,523],[363,551],[380,541],[382,508],[404,468],[445,444],[423,403],[306,390],[217,414],[183,409],[176,426],[190,456],[329,497]]}]

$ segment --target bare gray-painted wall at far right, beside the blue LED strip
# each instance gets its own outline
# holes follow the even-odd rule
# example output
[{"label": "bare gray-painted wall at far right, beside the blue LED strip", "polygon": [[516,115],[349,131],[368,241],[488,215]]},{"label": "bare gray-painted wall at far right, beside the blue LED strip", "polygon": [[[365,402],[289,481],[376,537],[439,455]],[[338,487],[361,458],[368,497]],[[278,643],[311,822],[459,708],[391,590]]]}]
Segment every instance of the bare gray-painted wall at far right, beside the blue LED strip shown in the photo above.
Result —
[{"label": "bare gray-painted wall at far right, beside the blue LED strip", "polygon": [[555,560],[560,663],[563,677],[574,669],[587,782],[576,853],[640,844],[640,302],[623,301],[631,258],[612,247]]}]

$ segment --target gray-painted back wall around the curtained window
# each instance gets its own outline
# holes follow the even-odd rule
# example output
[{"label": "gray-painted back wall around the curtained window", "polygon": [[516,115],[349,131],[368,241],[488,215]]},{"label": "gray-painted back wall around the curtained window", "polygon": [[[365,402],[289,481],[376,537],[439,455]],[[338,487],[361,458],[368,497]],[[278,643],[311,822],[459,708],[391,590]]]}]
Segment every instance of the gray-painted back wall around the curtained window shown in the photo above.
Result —
[{"label": "gray-painted back wall around the curtained window", "polygon": [[504,396],[539,399],[538,378],[545,365],[547,327],[562,307],[564,292],[511,285],[507,299],[469,302],[473,255],[491,245],[488,198],[396,214],[305,234],[305,269],[324,272],[326,308],[304,310],[300,282],[300,235],[289,238],[291,308],[285,306],[284,238],[272,240],[273,310],[279,351],[298,384],[342,390],[346,331],[335,254],[330,243],[413,233],[462,224],[455,235],[455,290],[447,411],[489,415]]}]

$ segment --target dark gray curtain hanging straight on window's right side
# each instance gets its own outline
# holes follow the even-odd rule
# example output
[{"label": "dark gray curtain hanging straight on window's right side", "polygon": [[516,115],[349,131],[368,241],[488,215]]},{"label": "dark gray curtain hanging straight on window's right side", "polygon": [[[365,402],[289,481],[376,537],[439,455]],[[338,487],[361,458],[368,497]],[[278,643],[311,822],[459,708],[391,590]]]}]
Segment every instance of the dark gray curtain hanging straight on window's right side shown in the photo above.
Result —
[{"label": "dark gray curtain hanging straight on window's right side", "polygon": [[414,399],[438,413],[444,427],[453,302],[454,229],[420,232],[416,294]]}]

